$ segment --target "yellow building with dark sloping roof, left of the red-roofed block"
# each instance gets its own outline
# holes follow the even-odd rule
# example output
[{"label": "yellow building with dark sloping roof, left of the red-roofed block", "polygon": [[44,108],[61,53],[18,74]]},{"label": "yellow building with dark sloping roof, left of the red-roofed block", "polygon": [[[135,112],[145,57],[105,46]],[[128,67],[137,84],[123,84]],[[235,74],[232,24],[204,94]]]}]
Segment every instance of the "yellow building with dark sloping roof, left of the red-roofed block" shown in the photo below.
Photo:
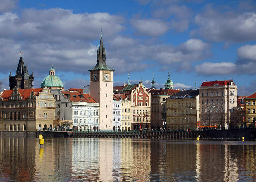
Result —
[{"label": "yellow building with dark sloping roof, left of the red-roofed block", "polygon": [[199,90],[185,90],[166,99],[167,122],[170,130],[195,130],[199,122]]}]

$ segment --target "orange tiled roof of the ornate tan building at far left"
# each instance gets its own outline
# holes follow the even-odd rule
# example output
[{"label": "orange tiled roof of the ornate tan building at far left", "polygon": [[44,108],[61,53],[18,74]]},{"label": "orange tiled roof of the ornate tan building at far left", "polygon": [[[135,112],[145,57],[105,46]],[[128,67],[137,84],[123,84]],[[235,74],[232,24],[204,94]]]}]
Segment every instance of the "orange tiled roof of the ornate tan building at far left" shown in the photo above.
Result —
[{"label": "orange tiled roof of the ornate tan building at far left", "polygon": [[[21,96],[21,100],[27,100],[27,98],[30,96],[30,93],[33,91],[35,92],[35,95],[38,96],[39,92],[42,92],[43,88],[28,88],[28,89],[22,89],[19,88],[18,91]],[[3,101],[8,101],[9,97],[13,93],[13,90],[4,90],[1,94],[1,97],[3,98]]]}]

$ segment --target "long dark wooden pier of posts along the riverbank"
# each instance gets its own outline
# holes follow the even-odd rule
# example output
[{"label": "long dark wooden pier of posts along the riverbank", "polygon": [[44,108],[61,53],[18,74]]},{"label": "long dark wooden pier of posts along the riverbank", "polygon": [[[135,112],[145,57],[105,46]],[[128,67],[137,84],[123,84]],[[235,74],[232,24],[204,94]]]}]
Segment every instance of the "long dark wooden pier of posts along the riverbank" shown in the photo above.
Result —
[{"label": "long dark wooden pier of posts along the riverbank", "polygon": [[119,132],[74,132],[68,137],[73,138],[156,138],[156,139],[195,139],[200,135],[200,138],[210,138],[203,131],[119,131]]}]

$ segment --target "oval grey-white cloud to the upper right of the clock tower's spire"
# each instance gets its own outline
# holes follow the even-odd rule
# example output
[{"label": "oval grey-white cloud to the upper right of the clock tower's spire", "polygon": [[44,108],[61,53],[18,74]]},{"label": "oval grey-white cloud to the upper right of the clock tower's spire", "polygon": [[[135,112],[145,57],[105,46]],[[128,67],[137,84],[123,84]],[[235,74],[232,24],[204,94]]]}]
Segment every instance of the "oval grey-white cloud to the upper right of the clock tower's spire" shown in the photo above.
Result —
[{"label": "oval grey-white cloud to the upper right of the clock tower's spire", "polygon": [[167,22],[158,19],[131,19],[130,23],[138,34],[150,37],[161,36],[169,29]]}]

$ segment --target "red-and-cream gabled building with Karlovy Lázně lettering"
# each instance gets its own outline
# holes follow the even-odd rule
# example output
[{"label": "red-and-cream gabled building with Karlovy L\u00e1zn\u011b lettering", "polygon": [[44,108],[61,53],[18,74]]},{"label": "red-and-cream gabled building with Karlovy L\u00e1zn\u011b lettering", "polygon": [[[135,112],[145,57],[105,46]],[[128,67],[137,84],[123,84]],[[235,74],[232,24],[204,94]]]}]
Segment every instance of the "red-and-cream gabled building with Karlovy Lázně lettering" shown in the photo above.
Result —
[{"label": "red-and-cream gabled building with Karlovy L\u00e1zn\u011b lettering", "polygon": [[139,84],[124,83],[113,87],[113,93],[124,94],[131,100],[132,130],[150,127],[150,94],[142,81]]}]

